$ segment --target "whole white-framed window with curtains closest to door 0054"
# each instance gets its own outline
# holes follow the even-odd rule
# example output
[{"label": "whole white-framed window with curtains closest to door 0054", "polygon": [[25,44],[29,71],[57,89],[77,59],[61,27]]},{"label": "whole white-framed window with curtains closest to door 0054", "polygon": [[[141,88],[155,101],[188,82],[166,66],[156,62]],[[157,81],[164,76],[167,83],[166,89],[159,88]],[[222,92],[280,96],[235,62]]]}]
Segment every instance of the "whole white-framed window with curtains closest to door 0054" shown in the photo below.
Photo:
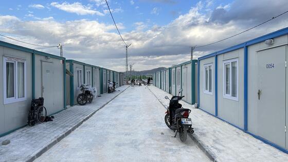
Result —
[{"label": "whole white-framed window with curtains closest to door 0054", "polygon": [[238,101],[238,58],[223,61],[223,97]]}]

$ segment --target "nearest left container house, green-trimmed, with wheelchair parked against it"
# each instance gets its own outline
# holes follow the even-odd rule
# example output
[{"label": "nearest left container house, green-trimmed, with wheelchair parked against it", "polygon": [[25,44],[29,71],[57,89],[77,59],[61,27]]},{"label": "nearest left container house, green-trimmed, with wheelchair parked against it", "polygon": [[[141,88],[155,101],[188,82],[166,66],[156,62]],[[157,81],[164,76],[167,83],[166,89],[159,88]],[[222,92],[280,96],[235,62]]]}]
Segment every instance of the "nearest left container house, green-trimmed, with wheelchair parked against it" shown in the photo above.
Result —
[{"label": "nearest left container house, green-trimmed, with wheelchair parked against it", "polygon": [[26,125],[34,98],[47,115],[65,109],[65,58],[3,41],[0,56],[0,136]]}]

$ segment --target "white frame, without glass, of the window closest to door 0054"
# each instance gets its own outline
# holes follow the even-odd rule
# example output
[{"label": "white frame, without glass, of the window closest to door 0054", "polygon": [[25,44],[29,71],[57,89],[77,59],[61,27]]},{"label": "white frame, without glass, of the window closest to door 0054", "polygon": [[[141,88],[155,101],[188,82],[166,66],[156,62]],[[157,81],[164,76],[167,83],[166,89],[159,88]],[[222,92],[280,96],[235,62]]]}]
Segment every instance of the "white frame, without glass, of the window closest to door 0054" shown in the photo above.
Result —
[{"label": "white frame, without glass, of the window closest to door 0054", "polygon": [[[236,69],[236,97],[232,96],[232,62],[236,62],[237,69]],[[225,65],[229,64],[230,70],[229,70],[229,75],[230,75],[230,94],[226,94],[226,67]],[[228,60],[223,60],[223,98],[230,99],[230,100],[235,100],[239,101],[239,58],[234,58],[234,59],[228,59]]]}]

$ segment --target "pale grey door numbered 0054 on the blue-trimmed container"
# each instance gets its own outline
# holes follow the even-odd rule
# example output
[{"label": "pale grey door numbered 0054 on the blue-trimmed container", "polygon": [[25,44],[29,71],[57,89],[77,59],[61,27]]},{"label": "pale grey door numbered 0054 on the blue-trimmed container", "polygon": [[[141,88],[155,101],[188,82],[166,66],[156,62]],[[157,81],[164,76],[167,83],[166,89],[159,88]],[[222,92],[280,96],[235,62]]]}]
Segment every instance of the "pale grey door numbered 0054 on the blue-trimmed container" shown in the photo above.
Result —
[{"label": "pale grey door numbered 0054 on the blue-trimmed container", "polygon": [[258,135],[285,148],[286,46],[257,52]]}]

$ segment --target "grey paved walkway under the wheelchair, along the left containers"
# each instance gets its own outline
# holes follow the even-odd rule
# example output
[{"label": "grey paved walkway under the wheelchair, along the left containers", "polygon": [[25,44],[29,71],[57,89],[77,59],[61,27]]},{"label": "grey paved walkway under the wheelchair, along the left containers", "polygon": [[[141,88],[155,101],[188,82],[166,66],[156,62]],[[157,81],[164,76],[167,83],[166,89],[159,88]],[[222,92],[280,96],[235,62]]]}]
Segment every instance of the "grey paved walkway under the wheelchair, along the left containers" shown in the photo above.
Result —
[{"label": "grey paved walkway under the wheelchair, along the left containers", "polygon": [[128,85],[123,85],[111,94],[103,94],[91,104],[70,107],[55,114],[53,121],[34,127],[27,126],[1,137],[1,142],[10,139],[11,143],[6,146],[0,145],[0,161],[27,161],[40,156],[127,87]]}]

